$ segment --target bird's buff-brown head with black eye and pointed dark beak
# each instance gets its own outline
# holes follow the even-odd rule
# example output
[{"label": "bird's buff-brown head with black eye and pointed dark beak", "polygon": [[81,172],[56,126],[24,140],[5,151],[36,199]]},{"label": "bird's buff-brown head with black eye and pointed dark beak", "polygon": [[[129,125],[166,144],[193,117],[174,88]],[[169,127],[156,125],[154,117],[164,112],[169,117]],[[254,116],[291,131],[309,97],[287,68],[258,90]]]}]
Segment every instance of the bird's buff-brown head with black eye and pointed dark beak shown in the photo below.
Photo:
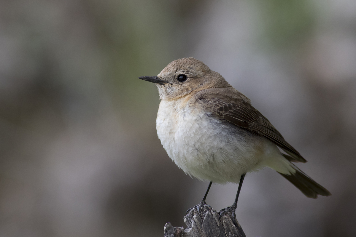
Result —
[{"label": "bird's buff-brown head with black eye and pointed dark beak", "polygon": [[218,72],[192,57],[174,60],[157,76],[138,78],[155,83],[161,99],[177,99],[206,88],[231,87]]}]

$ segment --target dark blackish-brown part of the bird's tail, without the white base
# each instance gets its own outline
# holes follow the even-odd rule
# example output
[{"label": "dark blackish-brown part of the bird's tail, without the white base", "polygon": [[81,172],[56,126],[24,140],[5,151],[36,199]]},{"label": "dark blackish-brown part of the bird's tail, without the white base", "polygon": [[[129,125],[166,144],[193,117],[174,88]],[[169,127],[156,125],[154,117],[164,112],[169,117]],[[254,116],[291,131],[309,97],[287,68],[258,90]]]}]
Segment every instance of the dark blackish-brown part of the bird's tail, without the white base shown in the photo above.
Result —
[{"label": "dark blackish-brown part of the bird's tail, without the white base", "polygon": [[[297,167],[295,167],[297,168]],[[279,172],[278,172],[279,173]],[[304,174],[299,169],[294,174],[282,174],[284,178],[288,179],[295,187],[297,187],[308,198],[318,198],[318,194],[321,196],[330,196],[331,193],[323,186],[316,183],[312,178]]]}]

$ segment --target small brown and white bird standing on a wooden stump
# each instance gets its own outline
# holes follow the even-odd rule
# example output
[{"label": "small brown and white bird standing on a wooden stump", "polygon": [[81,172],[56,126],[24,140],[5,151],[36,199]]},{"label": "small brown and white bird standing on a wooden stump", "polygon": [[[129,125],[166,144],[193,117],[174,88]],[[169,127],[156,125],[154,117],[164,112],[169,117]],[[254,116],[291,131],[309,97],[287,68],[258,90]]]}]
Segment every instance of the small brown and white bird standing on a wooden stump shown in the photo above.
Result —
[{"label": "small brown and white bird standing on a wooden stump", "polygon": [[212,183],[239,183],[234,203],[220,211],[220,216],[232,212],[237,226],[235,212],[245,175],[265,167],[308,198],[331,195],[293,164],[307,161],[252,107],[250,99],[202,61],[177,59],[157,76],[138,78],[158,88],[156,129],[168,156],[186,174],[210,181],[195,208],[206,205]]}]

